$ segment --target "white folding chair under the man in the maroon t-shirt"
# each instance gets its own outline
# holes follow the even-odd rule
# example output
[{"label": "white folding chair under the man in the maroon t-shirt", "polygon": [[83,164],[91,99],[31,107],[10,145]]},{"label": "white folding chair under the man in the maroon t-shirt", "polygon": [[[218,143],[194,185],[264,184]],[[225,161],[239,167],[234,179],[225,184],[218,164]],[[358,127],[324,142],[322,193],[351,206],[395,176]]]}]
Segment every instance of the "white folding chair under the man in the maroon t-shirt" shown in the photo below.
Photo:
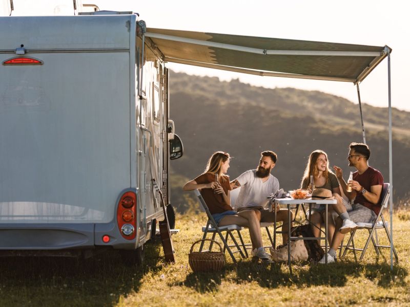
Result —
[{"label": "white folding chair under the man in the maroon t-shirt", "polygon": [[[360,258],[359,258],[359,260],[362,260],[364,253],[367,250],[367,246],[370,243],[370,240],[372,240],[377,256],[379,256],[380,254],[380,248],[391,248],[392,247],[394,255],[396,257],[396,262],[399,261],[399,257],[397,256],[396,249],[392,243],[392,238],[390,236],[390,233],[388,232],[388,222],[384,220],[384,216],[382,213],[383,209],[386,208],[388,204],[389,195],[390,195],[389,186],[390,186],[389,183],[383,184],[383,189],[380,195],[380,202],[379,202],[381,204],[381,207],[380,207],[380,212],[377,215],[376,220],[374,221],[374,223],[357,223],[358,228],[352,231],[341,258],[344,258],[347,250],[352,250],[355,254],[356,261],[357,261],[356,251],[362,251]],[[379,240],[377,237],[377,229],[382,229],[382,228],[386,231],[388,242],[390,245],[380,245],[379,244]],[[366,244],[364,245],[363,249],[355,248],[354,236],[358,229],[367,229],[369,233],[368,238],[366,240]],[[373,233],[375,234],[376,239],[373,237]],[[352,244],[352,247],[350,247],[351,244]]]}]

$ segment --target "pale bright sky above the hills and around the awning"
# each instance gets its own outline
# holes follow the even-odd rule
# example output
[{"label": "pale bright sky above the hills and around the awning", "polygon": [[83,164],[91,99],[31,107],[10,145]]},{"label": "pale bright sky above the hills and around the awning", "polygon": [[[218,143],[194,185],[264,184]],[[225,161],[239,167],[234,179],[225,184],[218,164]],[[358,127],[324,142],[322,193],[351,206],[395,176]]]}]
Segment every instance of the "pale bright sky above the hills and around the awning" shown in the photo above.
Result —
[{"label": "pale bright sky above the hills and around the awning", "polygon": [[[14,15],[18,15],[21,3],[33,5],[28,0],[13,2]],[[410,111],[406,75],[410,69],[409,57],[406,56],[410,54],[410,22],[407,16],[410,4],[406,1],[83,0],[83,4],[86,3],[96,4],[100,10],[138,12],[139,19],[145,20],[151,28],[388,45],[393,49],[392,105]],[[353,83],[260,77],[172,63],[168,67],[189,74],[218,76],[221,80],[239,78],[242,82],[265,87],[319,90],[357,102]],[[387,106],[387,58],[360,84],[360,93],[362,102]]]}]

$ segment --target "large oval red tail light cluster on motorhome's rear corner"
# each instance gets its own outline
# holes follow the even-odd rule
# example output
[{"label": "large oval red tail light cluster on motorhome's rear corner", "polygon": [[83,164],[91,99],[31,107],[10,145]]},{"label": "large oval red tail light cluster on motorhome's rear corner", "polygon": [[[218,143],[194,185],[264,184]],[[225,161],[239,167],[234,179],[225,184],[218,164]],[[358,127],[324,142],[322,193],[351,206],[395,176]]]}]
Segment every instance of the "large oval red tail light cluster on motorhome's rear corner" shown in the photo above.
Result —
[{"label": "large oval red tail light cluster on motorhome's rear corner", "polygon": [[136,236],[137,195],[129,191],[121,195],[117,206],[117,225],[122,237],[132,240]]}]

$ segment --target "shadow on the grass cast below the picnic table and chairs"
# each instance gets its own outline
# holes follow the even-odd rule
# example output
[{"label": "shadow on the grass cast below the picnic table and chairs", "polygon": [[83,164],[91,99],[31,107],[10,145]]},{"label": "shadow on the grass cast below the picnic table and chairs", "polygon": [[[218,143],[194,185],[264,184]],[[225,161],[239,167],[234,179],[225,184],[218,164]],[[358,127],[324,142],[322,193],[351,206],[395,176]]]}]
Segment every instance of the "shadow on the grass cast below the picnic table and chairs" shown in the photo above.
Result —
[{"label": "shadow on the grass cast below the picnic table and chairs", "polygon": [[335,264],[310,265],[308,263],[294,264],[293,274],[289,273],[287,264],[255,264],[251,261],[239,261],[238,264],[228,264],[221,272],[190,273],[183,282],[174,286],[186,286],[199,293],[218,291],[221,281],[235,272],[231,280],[238,284],[257,282],[260,287],[278,288],[297,286],[309,288],[315,286],[343,287],[352,277],[367,278],[376,282],[378,286],[389,288],[405,286],[406,269],[394,266],[393,271],[388,264],[360,264],[350,261],[336,262]]}]

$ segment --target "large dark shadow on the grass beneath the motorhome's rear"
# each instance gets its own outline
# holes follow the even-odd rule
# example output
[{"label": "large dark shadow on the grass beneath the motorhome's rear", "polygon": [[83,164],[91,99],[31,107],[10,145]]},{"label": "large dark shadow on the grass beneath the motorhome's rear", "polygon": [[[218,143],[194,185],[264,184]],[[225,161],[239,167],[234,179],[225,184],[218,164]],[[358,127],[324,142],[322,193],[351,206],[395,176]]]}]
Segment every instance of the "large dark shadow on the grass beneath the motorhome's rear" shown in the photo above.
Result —
[{"label": "large dark shadow on the grass beneath the motorhome's rear", "polygon": [[[162,269],[160,240],[147,243],[144,265],[126,266],[118,252],[89,259],[0,258],[0,305],[109,306],[138,292],[148,271]],[[7,294],[7,295],[5,295]]]}]

